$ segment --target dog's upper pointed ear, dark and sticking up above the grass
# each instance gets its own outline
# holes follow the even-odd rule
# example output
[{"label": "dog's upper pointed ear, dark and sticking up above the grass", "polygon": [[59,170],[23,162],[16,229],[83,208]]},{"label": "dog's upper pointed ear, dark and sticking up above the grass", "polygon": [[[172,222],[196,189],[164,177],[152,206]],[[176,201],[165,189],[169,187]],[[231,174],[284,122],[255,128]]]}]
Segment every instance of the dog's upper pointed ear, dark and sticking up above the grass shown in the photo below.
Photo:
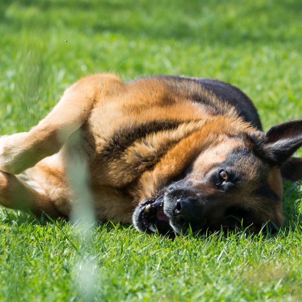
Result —
[{"label": "dog's upper pointed ear, dark and sticking up above the grass", "polygon": [[302,145],[302,119],[273,126],[266,132],[266,158],[274,164],[284,163]]}]

